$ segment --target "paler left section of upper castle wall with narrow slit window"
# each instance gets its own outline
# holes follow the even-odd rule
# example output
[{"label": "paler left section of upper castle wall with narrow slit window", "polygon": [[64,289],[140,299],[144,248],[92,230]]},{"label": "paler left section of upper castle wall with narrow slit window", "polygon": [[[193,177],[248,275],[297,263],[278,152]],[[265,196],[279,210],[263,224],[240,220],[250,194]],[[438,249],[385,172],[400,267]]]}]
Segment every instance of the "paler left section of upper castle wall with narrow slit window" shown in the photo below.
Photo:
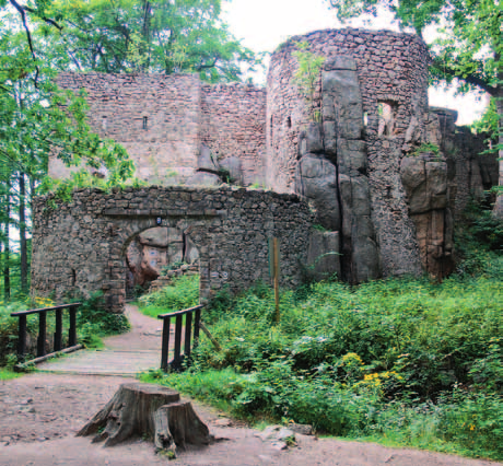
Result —
[{"label": "paler left section of upper castle wall with narrow slit window", "polygon": [[[61,73],[57,83],[86,91],[90,126],[126,148],[139,178],[169,185],[194,174],[201,101],[196,75]],[[51,160],[49,175],[65,176],[61,168]]]}]

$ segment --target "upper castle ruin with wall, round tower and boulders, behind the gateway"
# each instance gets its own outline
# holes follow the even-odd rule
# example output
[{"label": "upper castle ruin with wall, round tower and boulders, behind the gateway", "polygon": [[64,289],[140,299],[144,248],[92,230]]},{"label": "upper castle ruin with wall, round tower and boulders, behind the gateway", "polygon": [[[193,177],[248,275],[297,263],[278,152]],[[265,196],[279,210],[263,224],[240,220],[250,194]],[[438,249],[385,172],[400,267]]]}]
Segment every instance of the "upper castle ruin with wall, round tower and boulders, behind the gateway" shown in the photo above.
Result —
[{"label": "upper castle ruin with wall, round tower and boulders, behind the gateway", "polygon": [[[294,80],[299,42],[325,57],[315,115]],[[121,142],[151,184],[226,179],[295,193],[327,230],[309,255],[337,245],[340,260],[324,259],[324,272],[360,282],[423,270],[447,275],[454,218],[470,196],[496,184],[498,165],[477,155],[480,140],[455,127],[448,110],[429,110],[428,61],[418,36],[344,28],[280,46],[265,90],[203,84],[195,75],[62,73],[58,83],[87,91],[91,126]],[[68,170],[51,158],[49,173]]]}]

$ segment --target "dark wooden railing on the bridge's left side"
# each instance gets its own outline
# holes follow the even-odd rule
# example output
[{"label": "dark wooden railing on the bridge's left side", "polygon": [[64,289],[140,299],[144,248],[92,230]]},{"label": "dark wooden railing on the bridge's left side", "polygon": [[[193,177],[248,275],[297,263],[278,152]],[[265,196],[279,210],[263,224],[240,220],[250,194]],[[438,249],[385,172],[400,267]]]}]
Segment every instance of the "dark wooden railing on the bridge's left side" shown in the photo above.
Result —
[{"label": "dark wooden railing on the bridge's left side", "polygon": [[[37,338],[37,358],[50,356],[55,352],[63,350],[62,348],[62,312],[69,310],[70,326],[68,329],[68,346],[65,348],[73,348],[77,346],[77,310],[81,303],[63,304],[60,306],[44,307],[39,310],[19,311],[11,314],[12,317],[19,317],[19,340],[17,340],[17,360],[23,362],[26,356],[26,316],[30,314],[38,314],[38,338]],[[55,311],[56,328],[54,334],[54,352],[46,354],[47,339],[47,313]]]}]

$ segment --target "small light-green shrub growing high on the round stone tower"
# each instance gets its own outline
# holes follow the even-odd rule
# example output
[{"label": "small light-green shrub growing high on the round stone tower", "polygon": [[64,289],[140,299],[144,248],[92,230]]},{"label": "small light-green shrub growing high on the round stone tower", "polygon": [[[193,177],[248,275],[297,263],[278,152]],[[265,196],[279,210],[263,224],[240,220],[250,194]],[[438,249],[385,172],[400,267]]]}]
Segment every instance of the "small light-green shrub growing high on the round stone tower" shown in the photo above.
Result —
[{"label": "small light-green shrub growing high on the round stone tower", "polygon": [[309,119],[319,123],[321,115],[316,106],[315,94],[325,57],[308,51],[309,44],[307,42],[299,42],[296,46],[297,50],[292,54],[299,62],[294,83],[306,101]]}]

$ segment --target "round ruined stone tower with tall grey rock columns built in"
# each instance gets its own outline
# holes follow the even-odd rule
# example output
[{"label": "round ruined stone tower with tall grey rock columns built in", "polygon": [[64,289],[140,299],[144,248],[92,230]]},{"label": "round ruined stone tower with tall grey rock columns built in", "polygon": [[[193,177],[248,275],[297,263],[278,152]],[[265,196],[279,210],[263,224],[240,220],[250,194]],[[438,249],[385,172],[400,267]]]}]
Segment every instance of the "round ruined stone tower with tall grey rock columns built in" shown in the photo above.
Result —
[{"label": "round ruined stone tower with tall grey rock columns built in", "polygon": [[[315,94],[320,119],[318,148],[309,142],[314,135],[307,135],[307,148],[299,147],[309,117],[306,101],[294,83],[297,60],[292,53],[297,42],[307,42],[308,51],[326,57]],[[271,57],[266,129],[268,184],[279,191],[301,188],[305,195],[302,190],[309,189],[303,187],[304,178],[326,179],[329,176],[337,179],[330,189],[339,205],[332,206],[332,211],[339,218],[331,223],[341,225],[342,260],[350,280],[421,270],[400,162],[408,150],[424,140],[426,89],[426,47],[413,35],[351,28],[317,31],[291,38]],[[379,116],[383,105],[391,113],[386,125]],[[301,172],[296,174],[299,166]],[[365,196],[369,206],[355,202]],[[375,254],[373,243],[379,254]],[[361,253],[355,251],[359,248]],[[372,259],[366,259],[365,271],[359,272],[355,265],[362,257],[365,261],[365,256]]]}]

